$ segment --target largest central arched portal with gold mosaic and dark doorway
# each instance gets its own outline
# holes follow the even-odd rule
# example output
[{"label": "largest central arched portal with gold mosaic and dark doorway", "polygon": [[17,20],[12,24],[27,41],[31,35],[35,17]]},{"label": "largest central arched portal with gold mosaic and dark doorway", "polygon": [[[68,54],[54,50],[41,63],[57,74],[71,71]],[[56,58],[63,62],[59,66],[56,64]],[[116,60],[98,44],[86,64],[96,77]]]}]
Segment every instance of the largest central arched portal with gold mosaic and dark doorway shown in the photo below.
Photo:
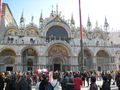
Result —
[{"label": "largest central arched portal with gold mosaic and dark doorway", "polygon": [[70,70],[68,49],[63,45],[53,45],[48,51],[48,68],[50,70]]}]

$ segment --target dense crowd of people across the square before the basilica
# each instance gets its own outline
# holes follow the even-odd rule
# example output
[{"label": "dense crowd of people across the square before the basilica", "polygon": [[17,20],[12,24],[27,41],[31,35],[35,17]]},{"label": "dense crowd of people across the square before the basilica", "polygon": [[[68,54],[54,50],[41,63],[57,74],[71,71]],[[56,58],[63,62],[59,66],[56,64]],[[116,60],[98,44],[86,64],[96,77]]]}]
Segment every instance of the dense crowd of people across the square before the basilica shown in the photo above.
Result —
[{"label": "dense crowd of people across the square before the basilica", "polygon": [[[98,86],[96,80],[103,80],[102,86]],[[32,86],[35,90],[81,90],[81,86],[89,90],[111,90],[112,84],[120,90],[120,71],[99,74],[96,71],[0,72],[0,90],[32,90]]]}]

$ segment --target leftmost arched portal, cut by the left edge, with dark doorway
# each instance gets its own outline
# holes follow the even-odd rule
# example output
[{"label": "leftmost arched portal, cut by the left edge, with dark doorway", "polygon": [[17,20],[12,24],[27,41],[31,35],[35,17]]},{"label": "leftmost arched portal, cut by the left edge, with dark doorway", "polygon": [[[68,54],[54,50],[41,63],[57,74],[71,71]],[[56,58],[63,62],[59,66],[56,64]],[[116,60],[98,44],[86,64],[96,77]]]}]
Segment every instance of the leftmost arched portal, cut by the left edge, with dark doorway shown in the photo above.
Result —
[{"label": "leftmost arched portal, cut by the left edge, with dark doorway", "polygon": [[11,49],[4,49],[0,53],[0,71],[15,71],[16,53]]}]

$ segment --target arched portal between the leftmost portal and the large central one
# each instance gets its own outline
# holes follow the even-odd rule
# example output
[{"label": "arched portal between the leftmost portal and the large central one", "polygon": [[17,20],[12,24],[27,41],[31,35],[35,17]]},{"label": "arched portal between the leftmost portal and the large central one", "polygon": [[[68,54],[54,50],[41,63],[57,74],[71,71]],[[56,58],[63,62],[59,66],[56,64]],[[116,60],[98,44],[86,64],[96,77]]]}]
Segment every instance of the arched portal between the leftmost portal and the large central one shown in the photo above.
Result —
[{"label": "arched portal between the leftmost portal and the large central one", "polygon": [[23,71],[31,71],[37,69],[38,55],[32,48],[28,48],[22,53]]}]

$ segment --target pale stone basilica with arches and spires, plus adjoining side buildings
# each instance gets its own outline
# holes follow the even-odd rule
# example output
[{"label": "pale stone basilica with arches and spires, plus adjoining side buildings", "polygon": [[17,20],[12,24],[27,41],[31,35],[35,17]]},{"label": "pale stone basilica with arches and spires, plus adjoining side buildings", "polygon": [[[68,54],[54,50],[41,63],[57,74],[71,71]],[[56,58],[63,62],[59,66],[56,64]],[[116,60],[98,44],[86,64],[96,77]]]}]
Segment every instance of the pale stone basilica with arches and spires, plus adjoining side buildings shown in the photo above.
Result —
[{"label": "pale stone basilica with arches and spires, plus adjoining side buildings", "polygon": [[[33,16],[26,25],[22,12],[20,24],[17,25],[8,4],[3,5],[0,71],[31,71],[44,68],[54,71],[78,71],[78,67],[83,66],[80,28],[75,26],[73,15],[70,20],[66,20],[56,9],[51,10],[47,18],[43,18],[41,12],[37,26]],[[104,28],[99,27],[97,23],[93,28],[89,17],[86,22],[87,26],[83,28],[84,69],[119,69],[120,32],[109,32],[107,18]]]}]

